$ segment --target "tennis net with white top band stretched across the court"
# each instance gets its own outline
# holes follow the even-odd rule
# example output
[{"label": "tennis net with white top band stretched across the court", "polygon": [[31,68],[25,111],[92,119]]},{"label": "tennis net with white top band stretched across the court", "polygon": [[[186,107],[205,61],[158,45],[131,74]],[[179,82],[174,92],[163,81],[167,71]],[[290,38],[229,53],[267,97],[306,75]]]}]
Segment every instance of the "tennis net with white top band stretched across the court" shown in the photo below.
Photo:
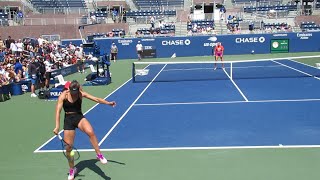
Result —
[{"label": "tennis net with white top band stretched across the court", "polygon": [[[133,82],[174,82],[226,79],[320,77],[320,69],[303,62],[320,63],[320,56],[244,61],[134,62]],[[215,64],[217,69],[215,69]]]}]

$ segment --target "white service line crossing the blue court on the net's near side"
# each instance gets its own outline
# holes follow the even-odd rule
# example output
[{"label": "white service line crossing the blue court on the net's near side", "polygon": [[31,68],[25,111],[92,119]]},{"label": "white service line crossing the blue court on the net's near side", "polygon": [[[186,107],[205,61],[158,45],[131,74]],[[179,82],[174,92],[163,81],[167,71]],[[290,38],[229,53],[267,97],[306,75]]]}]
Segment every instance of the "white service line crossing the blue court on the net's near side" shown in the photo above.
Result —
[{"label": "white service line crossing the blue court on the net's near side", "polygon": [[212,102],[180,102],[180,103],[177,102],[177,103],[135,104],[135,106],[172,106],[172,105],[311,102],[311,101],[320,101],[320,99],[273,99],[273,100],[257,100],[257,101],[212,101]]}]

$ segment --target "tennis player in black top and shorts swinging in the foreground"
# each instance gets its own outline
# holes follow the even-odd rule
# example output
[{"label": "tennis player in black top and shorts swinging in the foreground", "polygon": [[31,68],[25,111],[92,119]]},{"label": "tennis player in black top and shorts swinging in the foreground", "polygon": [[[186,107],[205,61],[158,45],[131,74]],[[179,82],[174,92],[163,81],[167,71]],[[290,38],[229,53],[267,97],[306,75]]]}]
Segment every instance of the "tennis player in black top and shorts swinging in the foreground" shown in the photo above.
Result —
[{"label": "tennis player in black top and shorts swinging in the foreground", "polygon": [[[116,106],[115,101],[107,101],[102,98],[95,97],[85,91],[82,90],[80,87],[79,82],[76,80],[72,82],[67,82],[65,84],[64,91],[60,94],[58,98],[58,102],[56,105],[56,116],[55,116],[55,128],[53,130],[54,134],[59,133],[60,128],[60,113],[62,108],[64,109],[65,116],[64,116],[64,141],[71,146],[74,144],[75,138],[75,129],[79,128],[82,132],[86,133],[89,136],[90,142],[96,152],[96,157],[102,164],[106,164],[108,161],[107,159],[101,154],[98,139],[93,131],[93,128],[90,122],[85,118],[82,113],[82,99],[87,98],[94,102],[100,104],[110,105],[112,107]],[[68,156],[68,163],[69,163],[69,176],[68,179],[74,179],[74,174],[76,174],[76,168],[74,166],[74,160],[70,156],[71,147],[66,147],[66,152]]]}]

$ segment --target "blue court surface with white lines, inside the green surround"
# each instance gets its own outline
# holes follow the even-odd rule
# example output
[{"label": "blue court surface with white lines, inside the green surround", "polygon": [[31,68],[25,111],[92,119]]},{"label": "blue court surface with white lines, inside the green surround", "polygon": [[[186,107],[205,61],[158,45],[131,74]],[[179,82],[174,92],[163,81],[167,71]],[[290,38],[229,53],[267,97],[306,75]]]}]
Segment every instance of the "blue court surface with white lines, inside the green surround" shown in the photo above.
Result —
[{"label": "blue court surface with white lines, inside the green surround", "polygon": [[[86,113],[102,150],[316,147],[319,70],[293,61],[149,65]],[[232,77],[232,78],[231,78]],[[62,133],[63,134],[63,133]],[[77,132],[75,147],[93,151]],[[61,151],[52,137],[35,152]]]}]

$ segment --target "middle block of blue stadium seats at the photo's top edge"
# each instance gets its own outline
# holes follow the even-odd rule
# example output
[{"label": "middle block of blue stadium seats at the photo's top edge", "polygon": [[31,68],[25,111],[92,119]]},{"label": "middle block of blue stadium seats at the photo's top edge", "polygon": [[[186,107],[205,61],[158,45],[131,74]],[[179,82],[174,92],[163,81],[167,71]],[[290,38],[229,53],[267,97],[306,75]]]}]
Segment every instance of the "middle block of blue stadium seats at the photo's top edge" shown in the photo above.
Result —
[{"label": "middle block of blue stadium seats at the photo's top edge", "polygon": [[134,3],[139,9],[160,9],[162,6],[183,7],[184,0],[134,0]]}]

